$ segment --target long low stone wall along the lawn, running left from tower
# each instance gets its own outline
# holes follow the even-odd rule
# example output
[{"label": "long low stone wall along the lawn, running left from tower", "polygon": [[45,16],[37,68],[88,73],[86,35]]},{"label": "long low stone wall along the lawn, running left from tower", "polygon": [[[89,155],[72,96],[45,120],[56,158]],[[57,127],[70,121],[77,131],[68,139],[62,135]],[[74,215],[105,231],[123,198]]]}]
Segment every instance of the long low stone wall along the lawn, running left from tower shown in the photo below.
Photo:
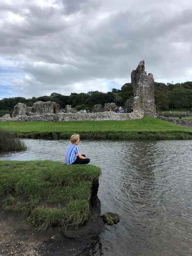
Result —
[{"label": "long low stone wall along the lawn, running left from tower", "polygon": [[101,120],[132,120],[140,119],[143,113],[115,113],[115,112],[100,112],[100,113],[59,113],[59,114],[45,114],[36,116],[17,116],[17,122],[27,121],[48,121],[48,122],[62,122],[62,121],[101,121]]}]

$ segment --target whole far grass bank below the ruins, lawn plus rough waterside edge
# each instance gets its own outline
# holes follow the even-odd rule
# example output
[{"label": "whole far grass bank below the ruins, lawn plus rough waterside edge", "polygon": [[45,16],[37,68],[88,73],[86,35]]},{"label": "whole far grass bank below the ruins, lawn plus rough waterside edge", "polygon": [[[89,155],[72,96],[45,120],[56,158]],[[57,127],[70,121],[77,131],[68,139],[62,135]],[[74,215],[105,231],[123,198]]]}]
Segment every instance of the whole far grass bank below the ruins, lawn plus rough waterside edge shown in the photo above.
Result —
[{"label": "whole far grass bank below the ruins, lawn plus rough waterside edge", "polygon": [[69,139],[192,139],[192,129],[153,117],[129,121],[1,122],[0,127],[24,138]]}]

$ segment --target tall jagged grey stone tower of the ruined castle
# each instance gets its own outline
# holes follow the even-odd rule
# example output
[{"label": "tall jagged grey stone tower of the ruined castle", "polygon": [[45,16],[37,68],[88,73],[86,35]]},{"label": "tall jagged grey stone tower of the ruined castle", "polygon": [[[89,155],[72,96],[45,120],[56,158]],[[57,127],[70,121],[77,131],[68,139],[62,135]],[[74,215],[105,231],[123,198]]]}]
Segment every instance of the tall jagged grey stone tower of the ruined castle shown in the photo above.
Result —
[{"label": "tall jagged grey stone tower of the ruined castle", "polygon": [[131,72],[131,85],[134,97],[128,99],[125,103],[127,112],[130,112],[130,109],[133,108],[133,111],[144,112],[144,115],[156,115],[153,74],[149,73],[147,75],[144,60],[140,61],[136,70]]}]

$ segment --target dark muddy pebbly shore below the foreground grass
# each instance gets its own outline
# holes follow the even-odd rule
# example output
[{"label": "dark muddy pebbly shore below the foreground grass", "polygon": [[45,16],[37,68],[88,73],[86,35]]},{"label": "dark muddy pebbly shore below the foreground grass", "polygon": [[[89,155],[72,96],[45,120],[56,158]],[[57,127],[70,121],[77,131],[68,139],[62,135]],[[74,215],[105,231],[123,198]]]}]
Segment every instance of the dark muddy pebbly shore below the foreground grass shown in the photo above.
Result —
[{"label": "dark muddy pebbly shore below the foreground grass", "polygon": [[90,203],[91,216],[83,227],[68,231],[52,228],[45,233],[35,232],[20,214],[5,212],[0,207],[0,256],[75,256],[88,251],[104,228],[100,200],[93,197]]}]

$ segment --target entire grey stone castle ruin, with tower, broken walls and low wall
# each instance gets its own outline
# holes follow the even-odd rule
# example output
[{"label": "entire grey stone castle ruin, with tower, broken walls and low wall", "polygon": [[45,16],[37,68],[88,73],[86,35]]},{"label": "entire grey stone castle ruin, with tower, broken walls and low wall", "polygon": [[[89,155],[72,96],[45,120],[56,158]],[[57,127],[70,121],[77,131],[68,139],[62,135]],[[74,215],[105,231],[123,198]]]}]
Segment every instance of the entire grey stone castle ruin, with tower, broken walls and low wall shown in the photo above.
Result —
[{"label": "entire grey stone castle ruin, with tower, broken walls and low wall", "polygon": [[[66,113],[59,112],[59,104],[56,102],[35,102],[32,107],[18,103],[14,106],[12,118],[9,114],[0,118],[0,122],[15,120],[26,121],[83,121],[83,120],[132,120],[142,118],[144,115],[155,116],[156,105],[154,103],[154,79],[153,75],[147,75],[145,61],[139,62],[136,70],[131,72],[131,85],[134,96],[125,102],[126,113],[116,113],[118,106],[114,102],[105,103],[104,107],[97,104],[93,106],[93,113],[84,113],[82,110],[74,110],[71,105],[66,105]],[[133,111],[131,111],[131,108]],[[131,113],[130,113],[131,112]]]}]

